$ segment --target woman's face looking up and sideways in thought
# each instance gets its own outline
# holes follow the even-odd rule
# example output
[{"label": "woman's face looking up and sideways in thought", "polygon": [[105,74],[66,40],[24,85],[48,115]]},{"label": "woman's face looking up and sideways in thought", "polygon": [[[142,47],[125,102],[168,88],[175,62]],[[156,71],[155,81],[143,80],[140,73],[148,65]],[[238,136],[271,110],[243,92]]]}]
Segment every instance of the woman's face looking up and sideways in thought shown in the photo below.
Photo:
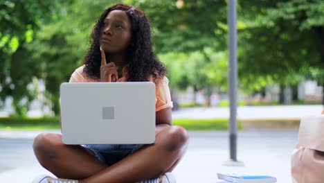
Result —
[{"label": "woman's face looking up and sideways in thought", "polygon": [[107,53],[123,53],[131,40],[132,25],[123,10],[112,10],[100,32],[100,46]]}]

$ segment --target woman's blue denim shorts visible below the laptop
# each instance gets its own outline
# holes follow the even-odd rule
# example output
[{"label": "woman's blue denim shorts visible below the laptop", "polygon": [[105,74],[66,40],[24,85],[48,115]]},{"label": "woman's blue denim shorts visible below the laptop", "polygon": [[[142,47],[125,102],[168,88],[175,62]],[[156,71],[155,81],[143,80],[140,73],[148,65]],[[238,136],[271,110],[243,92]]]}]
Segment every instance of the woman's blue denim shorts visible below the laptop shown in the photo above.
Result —
[{"label": "woman's blue denim shorts visible below the laptop", "polygon": [[84,147],[91,150],[100,162],[107,164],[107,166],[111,166],[128,155],[131,155],[143,145],[144,144],[89,144],[84,145]]}]

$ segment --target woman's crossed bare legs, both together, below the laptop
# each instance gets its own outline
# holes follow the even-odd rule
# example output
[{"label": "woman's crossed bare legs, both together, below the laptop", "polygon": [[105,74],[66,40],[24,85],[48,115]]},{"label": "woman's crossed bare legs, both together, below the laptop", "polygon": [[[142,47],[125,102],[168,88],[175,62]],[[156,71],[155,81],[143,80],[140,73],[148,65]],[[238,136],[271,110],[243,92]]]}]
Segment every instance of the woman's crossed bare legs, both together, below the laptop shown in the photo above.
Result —
[{"label": "woman's crossed bare legs, both together, below the laptop", "polygon": [[[55,138],[51,137],[54,136]],[[186,152],[186,130],[166,126],[156,134],[152,145],[107,167],[82,146],[62,144],[58,134],[41,134],[35,139],[34,150],[40,164],[57,177],[80,182],[136,182],[172,171]]]}]

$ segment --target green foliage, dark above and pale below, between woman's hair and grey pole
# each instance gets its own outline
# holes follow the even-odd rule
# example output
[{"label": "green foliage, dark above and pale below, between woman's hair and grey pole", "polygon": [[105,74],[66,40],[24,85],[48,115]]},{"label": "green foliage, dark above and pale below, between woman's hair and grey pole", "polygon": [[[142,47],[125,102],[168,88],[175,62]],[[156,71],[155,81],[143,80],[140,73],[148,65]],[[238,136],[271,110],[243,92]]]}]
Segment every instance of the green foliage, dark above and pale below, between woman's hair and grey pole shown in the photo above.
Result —
[{"label": "green foliage, dark above and pale below, between woman's hair and grey pole", "polygon": [[[138,1],[152,22],[156,53],[169,69],[170,85],[184,89],[189,85],[195,91],[222,85],[226,69],[225,1]],[[224,55],[224,54],[223,54]]]}]

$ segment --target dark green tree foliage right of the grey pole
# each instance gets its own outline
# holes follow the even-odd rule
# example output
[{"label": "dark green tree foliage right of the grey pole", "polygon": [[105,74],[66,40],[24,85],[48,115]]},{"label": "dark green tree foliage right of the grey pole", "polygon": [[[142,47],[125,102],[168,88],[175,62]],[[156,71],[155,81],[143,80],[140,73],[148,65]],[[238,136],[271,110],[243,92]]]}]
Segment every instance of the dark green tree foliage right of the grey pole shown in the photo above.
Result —
[{"label": "dark green tree foliage right of the grey pole", "polygon": [[324,86],[324,1],[240,1],[240,8],[245,85],[256,78],[288,85],[306,76]]}]

